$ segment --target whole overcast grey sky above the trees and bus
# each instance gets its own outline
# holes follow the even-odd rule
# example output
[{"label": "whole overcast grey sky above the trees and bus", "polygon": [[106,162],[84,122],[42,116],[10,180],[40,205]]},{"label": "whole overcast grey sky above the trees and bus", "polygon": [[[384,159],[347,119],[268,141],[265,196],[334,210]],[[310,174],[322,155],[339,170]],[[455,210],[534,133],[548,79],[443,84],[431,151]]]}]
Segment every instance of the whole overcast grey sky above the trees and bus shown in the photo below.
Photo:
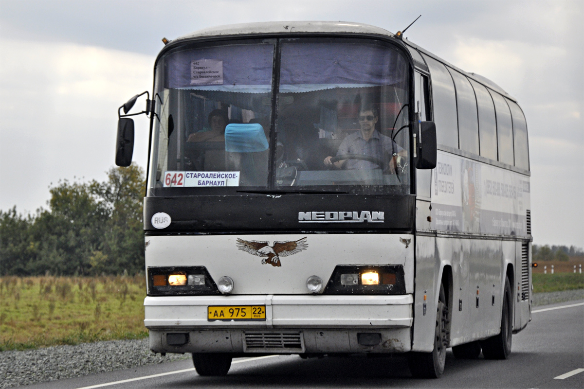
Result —
[{"label": "whole overcast grey sky above the trees and bus", "polygon": [[[0,1],[0,209],[62,178],[105,180],[117,107],[152,89],[162,37],[220,24],[343,20],[405,36],[516,97],[527,118],[534,243],[584,246],[582,1]],[[141,103],[140,103],[141,104]],[[148,120],[134,159],[145,167]]]}]

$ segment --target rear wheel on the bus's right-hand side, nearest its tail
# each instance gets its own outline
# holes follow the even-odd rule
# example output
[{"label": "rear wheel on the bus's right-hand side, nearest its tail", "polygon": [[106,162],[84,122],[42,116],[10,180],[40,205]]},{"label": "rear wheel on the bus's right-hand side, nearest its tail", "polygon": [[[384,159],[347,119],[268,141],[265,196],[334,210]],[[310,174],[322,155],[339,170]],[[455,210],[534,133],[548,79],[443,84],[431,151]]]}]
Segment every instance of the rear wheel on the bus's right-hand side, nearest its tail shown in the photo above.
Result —
[{"label": "rear wheel on the bus's right-hand side, nearest its tail", "polygon": [[501,332],[499,335],[481,341],[482,355],[485,359],[507,359],[511,353],[511,335],[513,331],[513,305],[509,278],[505,277],[503,294],[503,311],[501,313]]}]

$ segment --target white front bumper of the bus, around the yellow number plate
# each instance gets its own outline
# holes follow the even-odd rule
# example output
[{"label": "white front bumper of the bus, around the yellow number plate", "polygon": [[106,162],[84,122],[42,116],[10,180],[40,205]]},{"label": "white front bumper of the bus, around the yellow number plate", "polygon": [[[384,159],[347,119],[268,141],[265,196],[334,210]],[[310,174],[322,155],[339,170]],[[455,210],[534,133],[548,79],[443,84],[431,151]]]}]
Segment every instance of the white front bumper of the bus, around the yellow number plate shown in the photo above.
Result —
[{"label": "white front bumper of the bus, around the yellow number plate", "polygon": [[[412,295],[146,297],[144,323],[154,352],[407,352],[412,303]],[[211,305],[265,305],[266,321],[207,321]],[[169,345],[177,333],[185,343]],[[380,341],[363,345],[363,334]]]}]

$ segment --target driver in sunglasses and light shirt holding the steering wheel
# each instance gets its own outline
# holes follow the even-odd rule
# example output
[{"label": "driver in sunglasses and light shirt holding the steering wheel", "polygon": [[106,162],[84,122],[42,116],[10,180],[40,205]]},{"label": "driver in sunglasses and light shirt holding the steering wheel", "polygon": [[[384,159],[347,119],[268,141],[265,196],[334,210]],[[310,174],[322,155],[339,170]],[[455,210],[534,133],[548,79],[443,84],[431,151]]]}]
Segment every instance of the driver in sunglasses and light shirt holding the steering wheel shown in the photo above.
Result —
[{"label": "driver in sunglasses and light shirt holding the steering wheel", "polygon": [[[397,143],[392,141],[389,136],[380,134],[375,129],[379,120],[377,109],[373,106],[361,106],[359,111],[359,126],[361,131],[347,136],[340,143],[336,155],[358,154],[373,157],[383,162],[389,162],[389,171],[395,172],[397,166],[397,156],[406,157],[407,153]],[[394,155],[394,153],[396,155]],[[388,156],[392,156],[389,160]],[[324,160],[325,166],[336,166],[338,169],[346,170],[371,170],[380,169],[374,162],[359,159],[343,159],[337,162],[331,162],[332,156]]]}]

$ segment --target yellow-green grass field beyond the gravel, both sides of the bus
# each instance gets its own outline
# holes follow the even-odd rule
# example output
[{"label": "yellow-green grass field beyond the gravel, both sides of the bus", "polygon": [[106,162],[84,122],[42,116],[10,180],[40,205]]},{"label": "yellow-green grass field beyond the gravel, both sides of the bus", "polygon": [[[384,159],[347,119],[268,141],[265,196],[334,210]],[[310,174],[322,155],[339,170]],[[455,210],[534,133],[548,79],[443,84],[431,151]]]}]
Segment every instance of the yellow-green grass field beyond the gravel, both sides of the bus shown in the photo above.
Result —
[{"label": "yellow-green grass field beyond the gravel, both sides of the bus", "polygon": [[[582,289],[584,274],[534,272],[533,288]],[[145,338],[145,295],[144,276],[0,278],[0,351]]]}]

